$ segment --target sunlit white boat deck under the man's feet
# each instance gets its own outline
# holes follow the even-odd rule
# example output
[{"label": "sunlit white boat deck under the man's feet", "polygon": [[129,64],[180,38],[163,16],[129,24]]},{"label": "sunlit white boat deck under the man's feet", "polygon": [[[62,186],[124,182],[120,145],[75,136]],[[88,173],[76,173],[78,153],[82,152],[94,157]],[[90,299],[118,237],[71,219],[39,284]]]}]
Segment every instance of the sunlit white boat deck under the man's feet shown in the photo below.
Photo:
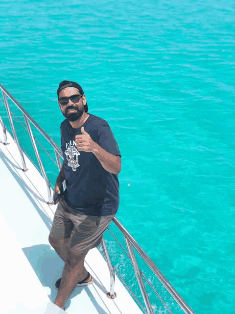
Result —
[{"label": "sunlit white boat deck under the man's feet", "polygon": [[[47,205],[47,187],[37,168],[24,155],[27,172],[17,145],[7,132],[3,145],[0,126],[0,236],[2,314],[63,314],[53,304],[64,262],[48,242],[56,205]],[[106,261],[92,249],[85,266],[93,275],[92,285],[75,288],[66,303],[69,314],[142,314],[126,288],[115,278],[116,299],[109,299],[110,273]]]}]

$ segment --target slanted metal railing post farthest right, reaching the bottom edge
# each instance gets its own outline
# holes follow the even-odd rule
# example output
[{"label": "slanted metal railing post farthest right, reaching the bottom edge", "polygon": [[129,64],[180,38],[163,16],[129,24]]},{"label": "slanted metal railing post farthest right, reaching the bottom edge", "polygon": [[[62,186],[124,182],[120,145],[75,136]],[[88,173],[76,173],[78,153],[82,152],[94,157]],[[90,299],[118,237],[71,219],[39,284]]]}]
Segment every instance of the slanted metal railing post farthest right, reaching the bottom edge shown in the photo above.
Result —
[{"label": "slanted metal railing post farthest right, reaching the bottom edge", "polygon": [[135,253],[131,247],[131,243],[130,241],[125,237],[125,241],[126,241],[126,246],[128,248],[128,251],[130,253],[130,256],[131,256],[131,262],[133,264],[133,267],[134,267],[134,270],[135,270],[135,274],[136,274],[136,278],[137,278],[137,281],[138,281],[138,284],[141,288],[141,293],[142,293],[142,296],[143,296],[143,301],[145,303],[145,306],[147,308],[147,312],[148,314],[153,314],[153,310],[151,308],[151,304],[149,302],[149,298],[148,298],[148,295],[147,295],[147,292],[146,292],[146,289],[144,287],[144,283],[143,283],[143,280],[142,280],[142,277],[141,277],[141,271],[140,271],[140,268],[136,262],[136,258],[135,258]]}]

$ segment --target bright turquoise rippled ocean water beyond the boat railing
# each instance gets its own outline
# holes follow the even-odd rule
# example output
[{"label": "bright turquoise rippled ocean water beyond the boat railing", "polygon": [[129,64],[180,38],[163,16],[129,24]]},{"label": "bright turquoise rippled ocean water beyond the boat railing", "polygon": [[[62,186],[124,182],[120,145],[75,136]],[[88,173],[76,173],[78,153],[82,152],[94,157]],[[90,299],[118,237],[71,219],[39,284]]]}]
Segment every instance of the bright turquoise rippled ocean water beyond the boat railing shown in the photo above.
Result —
[{"label": "bright turquoise rippled ocean water beyond the boat railing", "polygon": [[[0,7],[0,83],[58,145],[57,86],[80,83],[122,154],[118,219],[195,314],[235,313],[235,2]],[[30,151],[26,137],[20,133]],[[54,183],[56,166],[46,168]],[[113,252],[130,280],[131,270],[121,270],[128,262]],[[167,313],[149,295],[155,313]]]}]

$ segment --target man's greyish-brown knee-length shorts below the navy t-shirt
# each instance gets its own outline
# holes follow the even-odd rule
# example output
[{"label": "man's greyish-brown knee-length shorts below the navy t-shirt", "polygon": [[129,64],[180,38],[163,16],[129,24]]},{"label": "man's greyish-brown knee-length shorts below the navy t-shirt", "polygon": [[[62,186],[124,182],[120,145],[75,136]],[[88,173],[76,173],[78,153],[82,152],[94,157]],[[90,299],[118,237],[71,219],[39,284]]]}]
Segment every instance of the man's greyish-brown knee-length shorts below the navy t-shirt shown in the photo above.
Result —
[{"label": "man's greyish-brown knee-length shorts below the navy t-shirt", "polygon": [[62,200],[57,205],[50,236],[58,240],[70,238],[68,248],[73,254],[87,253],[101,244],[102,235],[114,216],[80,214]]}]

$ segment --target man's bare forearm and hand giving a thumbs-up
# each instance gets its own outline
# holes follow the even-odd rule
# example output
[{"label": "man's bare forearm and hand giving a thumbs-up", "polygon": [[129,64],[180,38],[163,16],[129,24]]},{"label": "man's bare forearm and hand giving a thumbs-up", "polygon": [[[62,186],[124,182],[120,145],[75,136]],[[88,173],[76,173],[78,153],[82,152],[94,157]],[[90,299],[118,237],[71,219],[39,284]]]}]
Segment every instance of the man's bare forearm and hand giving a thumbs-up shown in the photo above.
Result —
[{"label": "man's bare forearm and hand giving a thumbs-up", "polygon": [[84,127],[81,128],[81,132],[82,135],[75,136],[75,143],[78,151],[93,153],[106,171],[118,174],[121,171],[120,156],[107,152],[95,143],[91,136],[84,130]]}]

